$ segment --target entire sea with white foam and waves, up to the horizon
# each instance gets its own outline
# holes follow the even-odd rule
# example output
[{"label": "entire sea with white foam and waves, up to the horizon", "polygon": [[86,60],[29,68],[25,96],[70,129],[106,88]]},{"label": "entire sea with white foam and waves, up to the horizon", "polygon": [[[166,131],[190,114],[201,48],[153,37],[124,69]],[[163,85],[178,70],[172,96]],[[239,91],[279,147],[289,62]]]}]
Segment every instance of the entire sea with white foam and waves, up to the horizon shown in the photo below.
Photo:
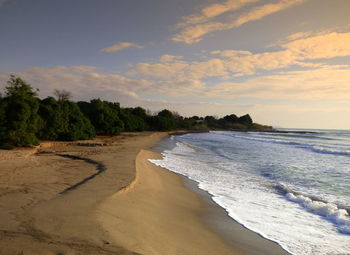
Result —
[{"label": "entire sea with white foam and waves, up to the horizon", "polygon": [[[169,147],[169,141],[174,146]],[[156,165],[292,254],[350,254],[350,131],[172,136]]]}]

